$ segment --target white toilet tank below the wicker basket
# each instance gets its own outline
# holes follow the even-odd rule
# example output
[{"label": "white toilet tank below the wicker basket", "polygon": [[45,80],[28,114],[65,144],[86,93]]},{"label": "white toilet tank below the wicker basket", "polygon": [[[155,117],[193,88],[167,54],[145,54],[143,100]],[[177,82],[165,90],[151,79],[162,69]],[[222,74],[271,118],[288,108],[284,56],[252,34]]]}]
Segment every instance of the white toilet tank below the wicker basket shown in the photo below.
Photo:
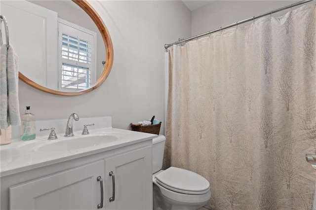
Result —
[{"label": "white toilet tank below the wicker basket", "polygon": [[162,169],[165,136],[158,135],[153,139],[153,174]]}]

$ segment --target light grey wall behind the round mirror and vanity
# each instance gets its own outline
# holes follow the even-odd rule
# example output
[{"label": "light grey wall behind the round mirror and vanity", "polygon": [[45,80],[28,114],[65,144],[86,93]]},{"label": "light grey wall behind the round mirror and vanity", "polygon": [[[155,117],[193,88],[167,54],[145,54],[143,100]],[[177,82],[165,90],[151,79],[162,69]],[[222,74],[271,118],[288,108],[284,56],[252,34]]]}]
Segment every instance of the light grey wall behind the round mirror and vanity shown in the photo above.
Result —
[{"label": "light grey wall behind the round mirror and vanity", "polygon": [[73,112],[79,117],[112,116],[113,127],[122,129],[153,115],[164,122],[164,44],[190,36],[190,10],[181,1],[89,2],[113,41],[109,77],[96,90],[72,97],[44,93],[20,81],[21,113],[30,105],[41,120],[66,119]]}]

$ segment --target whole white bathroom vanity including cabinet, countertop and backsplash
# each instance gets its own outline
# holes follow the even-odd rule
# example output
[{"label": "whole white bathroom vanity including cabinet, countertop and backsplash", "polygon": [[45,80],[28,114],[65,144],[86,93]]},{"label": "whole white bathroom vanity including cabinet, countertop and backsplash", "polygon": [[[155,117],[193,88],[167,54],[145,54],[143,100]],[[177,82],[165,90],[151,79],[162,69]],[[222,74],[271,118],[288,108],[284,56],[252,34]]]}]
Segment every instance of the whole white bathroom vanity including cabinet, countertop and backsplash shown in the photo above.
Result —
[{"label": "whole white bathroom vanity including cabinet, countertop and backsplash", "polygon": [[[109,120],[80,119],[74,137],[57,132],[57,140],[45,136],[1,146],[1,210],[152,209],[157,135],[115,129]],[[99,126],[81,135],[80,121]],[[64,121],[58,123],[52,126]]]}]

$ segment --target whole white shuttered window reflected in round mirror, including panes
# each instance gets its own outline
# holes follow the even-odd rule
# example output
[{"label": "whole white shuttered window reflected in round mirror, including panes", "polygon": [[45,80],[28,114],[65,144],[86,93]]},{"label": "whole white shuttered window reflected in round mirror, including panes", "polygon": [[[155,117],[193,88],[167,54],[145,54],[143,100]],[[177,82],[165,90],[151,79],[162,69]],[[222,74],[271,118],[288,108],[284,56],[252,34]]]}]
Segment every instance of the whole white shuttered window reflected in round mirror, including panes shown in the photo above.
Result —
[{"label": "whole white shuttered window reflected in round mirror, including panes", "polygon": [[84,90],[95,83],[95,40],[95,32],[58,20],[59,90]]}]

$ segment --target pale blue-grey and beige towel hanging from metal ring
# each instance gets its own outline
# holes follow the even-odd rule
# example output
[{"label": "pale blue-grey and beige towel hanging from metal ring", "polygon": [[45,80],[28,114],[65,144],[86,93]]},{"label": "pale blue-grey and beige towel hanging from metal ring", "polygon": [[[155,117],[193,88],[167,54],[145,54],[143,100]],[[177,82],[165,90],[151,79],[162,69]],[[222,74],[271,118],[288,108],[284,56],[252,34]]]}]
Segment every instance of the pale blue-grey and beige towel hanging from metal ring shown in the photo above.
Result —
[{"label": "pale blue-grey and beige towel hanging from metal ring", "polygon": [[18,58],[13,47],[3,44],[0,48],[0,129],[21,124],[18,73]]}]

